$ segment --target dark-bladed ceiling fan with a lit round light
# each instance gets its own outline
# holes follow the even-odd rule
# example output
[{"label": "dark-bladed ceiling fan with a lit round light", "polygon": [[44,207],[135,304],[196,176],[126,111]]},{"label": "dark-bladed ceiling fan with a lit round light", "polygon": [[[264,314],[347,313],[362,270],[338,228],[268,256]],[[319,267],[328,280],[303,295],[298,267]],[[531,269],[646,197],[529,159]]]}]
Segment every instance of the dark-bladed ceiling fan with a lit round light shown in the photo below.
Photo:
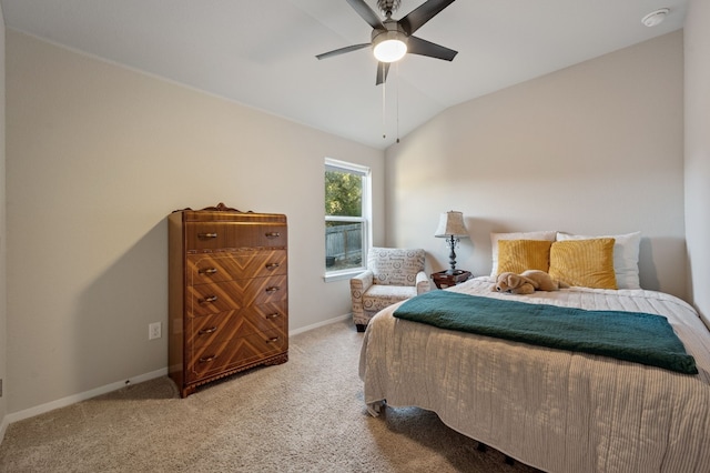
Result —
[{"label": "dark-bladed ceiling fan with a lit round light", "polygon": [[406,17],[394,20],[392,14],[397,11],[402,0],[377,0],[377,8],[385,17],[381,20],[365,3],[365,0],[347,0],[353,9],[373,27],[372,41],[361,44],[353,44],[316,56],[318,59],[327,59],[358,49],[373,47],[373,52],[378,61],[376,84],[387,80],[389,64],[398,61],[407,52],[412,54],[428,56],[429,58],[453,61],[457,51],[439,44],[423,40],[414,34],[427,21],[437,16],[455,0],[427,0],[419,7],[410,11]]}]

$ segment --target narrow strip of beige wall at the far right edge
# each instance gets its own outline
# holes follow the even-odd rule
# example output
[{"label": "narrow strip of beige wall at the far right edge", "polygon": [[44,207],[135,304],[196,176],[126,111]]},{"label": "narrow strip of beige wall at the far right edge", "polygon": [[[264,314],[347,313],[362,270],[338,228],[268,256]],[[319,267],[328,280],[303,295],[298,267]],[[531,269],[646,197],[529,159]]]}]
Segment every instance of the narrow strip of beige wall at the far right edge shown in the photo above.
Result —
[{"label": "narrow strip of beige wall at the far right edge", "polygon": [[710,2],[686,20],[686,222],[693,303],[710,326]]}]

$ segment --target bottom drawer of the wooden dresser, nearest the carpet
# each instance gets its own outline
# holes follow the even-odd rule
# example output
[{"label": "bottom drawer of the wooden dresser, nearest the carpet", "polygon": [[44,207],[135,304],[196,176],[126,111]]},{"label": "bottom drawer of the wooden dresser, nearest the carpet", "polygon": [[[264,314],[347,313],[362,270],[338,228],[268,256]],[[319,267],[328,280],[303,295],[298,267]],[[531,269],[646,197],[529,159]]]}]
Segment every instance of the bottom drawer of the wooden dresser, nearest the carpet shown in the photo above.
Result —
[{"label": "bottom drawer of the wooden dresser, nearest the carpet", "polygon": [[200,381],[257,363],[267,356],[284,353],[287,349],[288,339],[276,331],[193,348],[187,363],[187,378],[190,382]]}]

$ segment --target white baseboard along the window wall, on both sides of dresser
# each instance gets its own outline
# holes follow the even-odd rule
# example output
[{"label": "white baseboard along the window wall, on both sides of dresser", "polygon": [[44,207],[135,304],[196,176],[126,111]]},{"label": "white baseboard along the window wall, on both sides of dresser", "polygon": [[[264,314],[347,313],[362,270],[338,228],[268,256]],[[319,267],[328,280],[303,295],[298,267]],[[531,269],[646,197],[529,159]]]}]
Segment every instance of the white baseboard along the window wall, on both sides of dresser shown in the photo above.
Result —
[{"label": "white baseboard along the window wall, on both sides of dresser", "polygon": [[[349,318],[352,318],[352,314],[348,313],[345,315],[336,316],[334,319],[325,320],[323,322],[314,323],[312,325],[306,325],[301,329],[290,331],[288,336],[307,332],[310,330],[317,329],[320,326],[329,325],[332,323],[342,322]],[[144,381],[150,381],[155,378],[166,376],[166,375],[168,375],[168,366],[162,368],[160,370],[152,371],[150,373],[131,378],[129,379],[129,381],[131,383],[142,383]],[[24,411],[19,411],[19,412],[13,412],[11,414],[8,414],[2,419],[2,423],[0,424],[0,442],[2,442],[2,439],[4,437],[4,432],[8,429],[8,425],[11,424],[12,422],[22,421],[24,419],[33,417],[36,415],[40,415],[45,412],[53,411],[55,409],[65,407],[71,404],[75,404],[78,402],[85,401],[91,397],[95,397],[98,395],[106,394],[112,391],[120,390],[121,388],[125,386],[125,384],[126,384],[125,380],[116,381],[115,383],[106,384],[104,386],[99,386],[93,390],[84,391],[79,394],[73,394],[67,397],[62,397],[57,401],[48,402],[45,404],[36,405],[34,407],[26,409]]]}]

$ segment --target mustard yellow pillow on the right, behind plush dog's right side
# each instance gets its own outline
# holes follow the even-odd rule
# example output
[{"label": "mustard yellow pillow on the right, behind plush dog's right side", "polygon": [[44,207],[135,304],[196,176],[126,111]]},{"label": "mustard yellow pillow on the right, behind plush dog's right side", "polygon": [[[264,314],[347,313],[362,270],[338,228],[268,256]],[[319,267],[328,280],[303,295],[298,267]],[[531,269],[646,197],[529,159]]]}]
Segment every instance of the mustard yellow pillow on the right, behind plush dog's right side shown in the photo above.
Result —
[{"label": "mustard yellow pillow on the right, behind plush dog's right side", "polygon": [[550,276],[569,285],[617,289],[612,238],[556,241],[550,246]]}]

